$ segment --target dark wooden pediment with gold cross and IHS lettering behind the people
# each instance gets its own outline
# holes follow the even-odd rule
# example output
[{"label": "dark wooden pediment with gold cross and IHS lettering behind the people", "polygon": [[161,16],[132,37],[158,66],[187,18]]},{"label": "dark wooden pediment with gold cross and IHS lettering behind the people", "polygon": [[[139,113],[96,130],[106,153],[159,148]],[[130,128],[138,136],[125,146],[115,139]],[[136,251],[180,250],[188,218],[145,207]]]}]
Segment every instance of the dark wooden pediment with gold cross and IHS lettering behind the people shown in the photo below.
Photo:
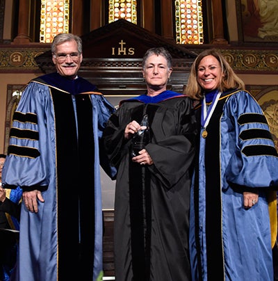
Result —
[{"label": "dark wooden pediment with gold cross and IHS lettering behind the people", "polygon": [[[124,19],[102,26],[81,38],[83,62],[79,74],[97,84],[99,90],[106,94],[123,90],[140,93],[145,90],[141,72],[142,56],[147,49],[159,46],[165,47],[173,57],[174,72],[169,88],[181,92],[197,56],[195,52]],[[35,61],[43,72],[55,70],[51,51],[37,56]]]}]

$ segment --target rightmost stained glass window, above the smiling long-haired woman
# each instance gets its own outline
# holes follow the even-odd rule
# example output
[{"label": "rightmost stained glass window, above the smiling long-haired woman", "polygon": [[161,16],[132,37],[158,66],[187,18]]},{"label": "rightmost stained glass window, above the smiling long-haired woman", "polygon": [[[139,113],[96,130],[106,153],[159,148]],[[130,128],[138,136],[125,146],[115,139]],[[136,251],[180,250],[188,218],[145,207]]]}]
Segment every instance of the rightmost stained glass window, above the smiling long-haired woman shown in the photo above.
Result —
[{"label": "rightmost stained glass window, above the smiling long-haired woman", "polygon": [[174,5],[177,43],[202,44],[202,0],[175,0]]}]

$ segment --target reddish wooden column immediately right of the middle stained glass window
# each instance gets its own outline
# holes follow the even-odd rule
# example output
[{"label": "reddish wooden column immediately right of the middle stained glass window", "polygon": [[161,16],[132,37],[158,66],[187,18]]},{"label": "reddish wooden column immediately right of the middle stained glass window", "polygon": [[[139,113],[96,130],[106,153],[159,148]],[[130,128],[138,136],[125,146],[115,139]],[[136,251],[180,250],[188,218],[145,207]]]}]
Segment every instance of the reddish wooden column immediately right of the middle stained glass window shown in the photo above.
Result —
[{"label": "reddish wooden column immediately right of the middle stained glass window", "polygon": [[154,11],[154,0],[142,0],[142,15],[141,15],[142,27],[152,33],[155,33],[155,24],[154,24],[155,18],[156,16]]}]

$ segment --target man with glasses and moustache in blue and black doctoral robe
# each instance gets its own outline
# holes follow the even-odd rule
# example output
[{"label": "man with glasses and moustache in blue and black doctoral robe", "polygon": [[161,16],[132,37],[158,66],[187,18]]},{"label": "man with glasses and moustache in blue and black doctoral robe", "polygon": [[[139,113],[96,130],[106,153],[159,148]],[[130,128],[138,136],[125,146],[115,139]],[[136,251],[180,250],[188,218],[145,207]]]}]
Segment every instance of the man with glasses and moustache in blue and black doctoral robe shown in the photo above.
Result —
[{"label": "man with glasses and moustache in blue and black doctoral robe", "polygon": [[101,280],[102,131],[114,107],[79,77],[82,41],[56,35],[57,72],[28,83],[13,116],[3,186],[22,186],[18,281]]}]

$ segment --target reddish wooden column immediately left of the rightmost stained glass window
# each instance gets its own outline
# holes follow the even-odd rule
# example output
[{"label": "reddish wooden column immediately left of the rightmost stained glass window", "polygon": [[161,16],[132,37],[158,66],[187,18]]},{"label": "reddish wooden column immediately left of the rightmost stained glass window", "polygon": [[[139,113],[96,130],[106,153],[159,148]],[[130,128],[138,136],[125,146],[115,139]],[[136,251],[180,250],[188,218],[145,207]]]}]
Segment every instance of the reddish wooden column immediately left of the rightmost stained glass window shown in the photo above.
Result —
[{"label": "reddish wooden column immediately left of the rightmost stained glass window", "polygon": [[172,3],[173,1],[161,0],[161,27],[164,38],[176,41],[173,34]]}]

